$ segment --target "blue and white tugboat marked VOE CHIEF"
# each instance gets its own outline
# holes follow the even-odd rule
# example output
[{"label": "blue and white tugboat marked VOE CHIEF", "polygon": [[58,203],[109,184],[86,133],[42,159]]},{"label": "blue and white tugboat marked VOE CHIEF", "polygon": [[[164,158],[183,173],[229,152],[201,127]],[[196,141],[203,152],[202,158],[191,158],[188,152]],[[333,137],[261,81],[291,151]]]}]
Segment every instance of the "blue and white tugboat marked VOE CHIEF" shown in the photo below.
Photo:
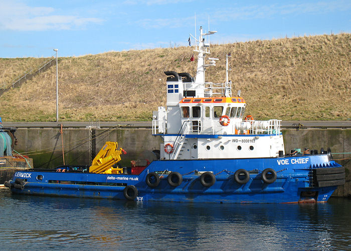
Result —
[{"label": "blue and white tugboat marked VOE CHIEF", "polygon": [[[205,81],[210,44],[197,40],[196,76],[165,71],[166,107],[153,112],[152,135],[163,142],[144,160],[119,167],[123,149],[106,142],[90,167],[16,172],[13,193],[126,200],[214,203],[326,202],[345,183],[345,169],[328,149],[284,152],[281,120],[245,115],[232,82]],[[118,163],[117,163],[118,164]]]}]

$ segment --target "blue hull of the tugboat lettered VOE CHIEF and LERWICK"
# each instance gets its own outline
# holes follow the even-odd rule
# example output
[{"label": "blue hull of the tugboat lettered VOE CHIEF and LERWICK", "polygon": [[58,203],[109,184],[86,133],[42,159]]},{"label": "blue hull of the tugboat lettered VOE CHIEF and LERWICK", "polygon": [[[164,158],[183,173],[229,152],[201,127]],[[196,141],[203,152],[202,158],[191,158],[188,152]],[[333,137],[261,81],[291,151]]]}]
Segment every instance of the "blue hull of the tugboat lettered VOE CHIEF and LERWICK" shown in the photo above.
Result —
[{"label": "blue hull of the tugboat lettered VOE CHIEF and LERWICK", "polygon": [[[267,168],[276,173],[276,179],[272,183],[266,183],[262,178],[262,173]],[[245,184],[239,184],[235,177],[235,172],[239,169],[249,173]],[[327,183],[316,181],[324,175],[313,171],[316,169],[324,169],[326,173],[336,172],[338,177],[335,178],[335,174],[327,174],[333,177],[328,179]],[[342,183],[342,169],[339,164],[329,161],[327,155],[159,160],[151,162],[138,175],[36,170],[17,172],[7,186],[12,192],[19,194],[122,200],[215,203],[297,203],[313,200],[325,202],[337,185]],[[180,173],[182,181],[175,186],[170,185],[167,179],[169,172]],[[206,186],[201,180],[201,174],[205,172],[210,172],[215,177],[214,182],[210,179],[209,183],[205,183]],[[155,187],[146,182],[150,173],[159,176],[159,183],[151,184],[156,185]]]}]

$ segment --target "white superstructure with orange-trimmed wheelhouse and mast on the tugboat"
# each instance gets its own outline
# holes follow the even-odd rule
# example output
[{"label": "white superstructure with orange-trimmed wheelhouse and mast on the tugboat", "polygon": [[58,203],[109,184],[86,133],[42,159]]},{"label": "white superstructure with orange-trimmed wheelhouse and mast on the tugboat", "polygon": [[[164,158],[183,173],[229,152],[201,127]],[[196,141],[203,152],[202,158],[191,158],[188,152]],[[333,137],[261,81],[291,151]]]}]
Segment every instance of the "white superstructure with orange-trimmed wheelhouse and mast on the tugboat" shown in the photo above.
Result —
[{"label": "white superstructure with orange-trimmed wheelhouse and mast on the tugboat", "polygon": [[[276,157],[284,154],[280,121],[253,120],[245,117],[246,102],[232,97],[232,83],[205,82],[206,67],[215,66],[210,44],[200,28],[200,38],[194,51],[198,52],[196,77],[189,73],[164,72],[167,75],[166,107],[153,112],[152,134],[163,138],[160,157],[163,159],[226,159]],[[164,151],[163,151],[164,150]]]}]

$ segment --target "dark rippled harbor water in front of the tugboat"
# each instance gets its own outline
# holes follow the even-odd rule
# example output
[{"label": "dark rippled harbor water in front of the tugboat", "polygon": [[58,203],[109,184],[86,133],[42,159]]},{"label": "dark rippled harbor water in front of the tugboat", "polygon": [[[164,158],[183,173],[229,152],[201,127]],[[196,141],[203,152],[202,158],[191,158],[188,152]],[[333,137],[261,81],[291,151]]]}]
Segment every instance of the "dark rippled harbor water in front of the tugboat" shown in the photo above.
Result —
[{"label": "dark rippled harbor water in front of the tugboat", "polygon": [[351,200],[190,204],[13,195],[0,189],[2,250],[351,249]]}]

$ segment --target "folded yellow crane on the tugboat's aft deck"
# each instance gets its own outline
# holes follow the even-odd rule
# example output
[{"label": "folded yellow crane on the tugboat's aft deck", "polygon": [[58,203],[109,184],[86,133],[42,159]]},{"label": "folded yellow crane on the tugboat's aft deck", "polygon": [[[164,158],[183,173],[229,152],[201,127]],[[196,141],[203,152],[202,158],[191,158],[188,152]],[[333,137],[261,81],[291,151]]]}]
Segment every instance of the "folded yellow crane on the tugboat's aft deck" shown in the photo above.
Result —
[{"label": "folded yellow crane on the tugboat's aft deck", "polygon": [[113,168],[113,164],[121,160],[120,155],[126,152],[119,148],[117,150],[117,142],[106,142],[100,152],[93,159],[89,167],[89,173],[99,174],[120,174],[123,172],[122,168]]}]

